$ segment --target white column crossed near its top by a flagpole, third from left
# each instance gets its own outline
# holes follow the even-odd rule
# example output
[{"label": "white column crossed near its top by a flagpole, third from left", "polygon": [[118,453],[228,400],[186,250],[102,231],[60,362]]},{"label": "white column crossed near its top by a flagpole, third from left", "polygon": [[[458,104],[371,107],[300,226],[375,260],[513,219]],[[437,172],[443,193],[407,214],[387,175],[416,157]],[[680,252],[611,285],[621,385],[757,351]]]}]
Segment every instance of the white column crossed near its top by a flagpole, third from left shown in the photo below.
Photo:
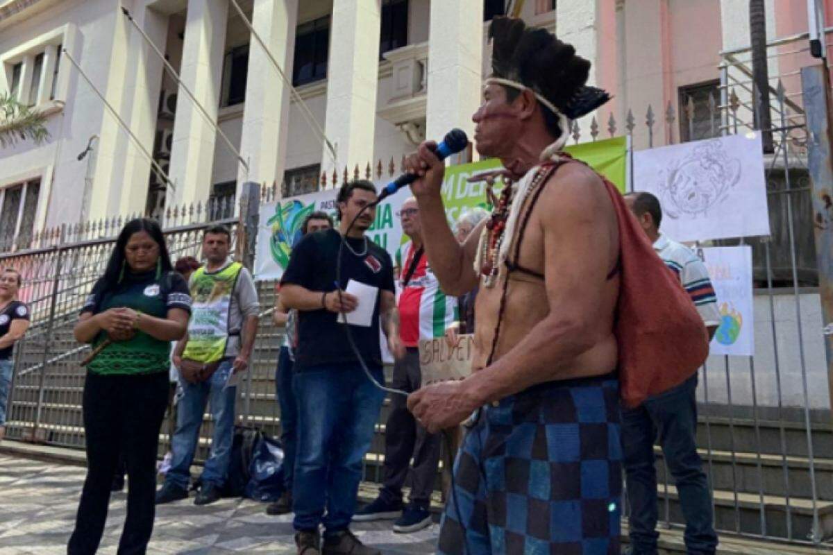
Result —
[{"label": "white column crossed near its top by a flagpole, third from left", "polygon": [[[255,0],[252,25],[284,75],[292,82],[298,0]],[[243,181],[282,181],[287,137],[282,131],[289,115],[290,89],[278,74],[260,43],[249,42],[246,104],[240,151],[249,165],[248,175],[237,173],[237,198]]]}]

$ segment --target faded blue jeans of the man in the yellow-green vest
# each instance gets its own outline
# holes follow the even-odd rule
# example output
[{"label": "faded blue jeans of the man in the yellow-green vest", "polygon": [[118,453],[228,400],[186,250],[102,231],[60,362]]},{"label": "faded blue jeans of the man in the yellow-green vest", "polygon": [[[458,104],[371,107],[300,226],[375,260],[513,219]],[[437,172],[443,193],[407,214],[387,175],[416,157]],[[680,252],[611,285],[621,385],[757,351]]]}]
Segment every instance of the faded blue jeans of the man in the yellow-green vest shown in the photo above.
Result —
[{"label": "faded blue jeans of the man in the yellow-green vest", "polygon": [[228,462],[234,439],[234,400],[237,388],[223,389],[232,374],[232,360],[223,360],[210,379],[199,384],[189,384],[180,379],[182,398],[177,405],[177,431],[171,440],[171,469],[165,475],[165,483],[177,488],[187,488],[191,480],[191,463],[202,426],[202,414],[211,400],[214,420],[214,436],[211,456],[202,468],[202,485],[212,483],[221,488],[226,482]]}]

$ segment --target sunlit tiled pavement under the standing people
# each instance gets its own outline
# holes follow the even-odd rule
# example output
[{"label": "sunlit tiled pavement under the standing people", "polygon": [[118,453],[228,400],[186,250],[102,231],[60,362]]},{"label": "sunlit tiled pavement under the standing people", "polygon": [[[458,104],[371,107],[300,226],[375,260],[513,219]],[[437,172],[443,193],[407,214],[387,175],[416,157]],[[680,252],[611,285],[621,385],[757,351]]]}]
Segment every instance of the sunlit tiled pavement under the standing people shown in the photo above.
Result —
[{"label": "sunlit tiled pavement under the standing people", "polygon": [[[77,466],[0,454],[0,555],[67,553],[84,473]],[[116,553],[126,498],[113,494],[98,553]],[[263,509],[245,499],[222,499],[207,507],[195,507],[192,500],[163,505],[157,508],[147,553],[295,553],[292,515],[270,517]],[[437,524],[404,535],[393,533],[391,524],[357,524],[353,531],[382,553],[433,553]]]}]

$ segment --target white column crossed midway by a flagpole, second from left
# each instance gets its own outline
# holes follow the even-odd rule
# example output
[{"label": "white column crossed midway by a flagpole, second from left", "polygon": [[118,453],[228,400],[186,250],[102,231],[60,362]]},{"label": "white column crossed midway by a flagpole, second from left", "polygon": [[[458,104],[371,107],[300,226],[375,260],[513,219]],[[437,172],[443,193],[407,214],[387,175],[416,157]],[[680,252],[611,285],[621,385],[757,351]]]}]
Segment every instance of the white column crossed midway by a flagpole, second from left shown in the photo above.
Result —
[{"label": "white column crossed midway by a flagpole, second from left", "polygon": [[[180,77],[215,124],[220,105],[227,19],[227,0],[188,2]],[[212,122],[206,120],[179,87],[169,174],[176,189],[167,195],[167,206],[207,201],[217,138]]]}]

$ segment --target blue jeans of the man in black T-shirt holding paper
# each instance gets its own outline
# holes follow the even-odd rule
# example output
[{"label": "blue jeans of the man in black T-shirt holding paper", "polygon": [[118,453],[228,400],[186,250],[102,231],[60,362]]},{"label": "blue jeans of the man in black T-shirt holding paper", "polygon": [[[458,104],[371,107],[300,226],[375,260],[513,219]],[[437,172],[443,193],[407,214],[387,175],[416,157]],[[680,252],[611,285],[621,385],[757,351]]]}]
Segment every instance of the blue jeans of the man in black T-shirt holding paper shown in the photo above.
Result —
[{"label": "blue jeans of the man in black T-shirt holding paper", "polygon": [[[384,383],[379,366],[370,367]],[[357,363],[315,366],[295,373],[298,449],[292,503],[297,530],[325,534],[349,527],[385,392]],[[324,515],[324,508],[327,515]]]}]

